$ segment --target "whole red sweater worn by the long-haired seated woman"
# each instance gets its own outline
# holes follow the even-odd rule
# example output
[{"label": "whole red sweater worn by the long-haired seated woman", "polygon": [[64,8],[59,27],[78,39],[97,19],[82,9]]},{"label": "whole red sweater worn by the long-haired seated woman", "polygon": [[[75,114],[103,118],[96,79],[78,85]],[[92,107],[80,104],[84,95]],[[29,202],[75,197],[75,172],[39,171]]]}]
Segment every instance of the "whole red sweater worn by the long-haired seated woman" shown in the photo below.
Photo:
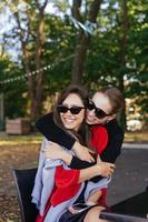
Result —
[{"label": "whole red sweater worn by the long-haired seated woman", "polygon": [[[108,133],[105,127],[102,125],[93,125],[91,128],[91,145],[96,149],[96,152],[100,154],[108,143]],[[56,188],[55,192],[49,199],[43,216],[38,215],[36,222],[43,222],[45,216],[50,209],[51,205],[57,205],[63,201],[71,199],[73,195],[77,194],[80,183],[79,180],[80,170],[65,170],[62,167],[56,168]],[[106,204],[107,198],[107,189],[101,189],[102,195],[99,199],[99,204]]]}]

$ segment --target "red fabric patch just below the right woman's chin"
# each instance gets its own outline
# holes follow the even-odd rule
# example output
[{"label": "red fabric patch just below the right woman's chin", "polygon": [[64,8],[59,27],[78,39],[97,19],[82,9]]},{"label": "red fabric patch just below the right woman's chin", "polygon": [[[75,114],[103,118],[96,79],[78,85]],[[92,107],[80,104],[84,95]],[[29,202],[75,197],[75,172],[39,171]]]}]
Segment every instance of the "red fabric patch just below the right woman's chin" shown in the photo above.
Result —
[{"label": "red fabric patch just below the right woman's chin", "polygon": [[91,145],[100,154],[107,147],[108,132],[103,125],[93,125],[91,128]]}]

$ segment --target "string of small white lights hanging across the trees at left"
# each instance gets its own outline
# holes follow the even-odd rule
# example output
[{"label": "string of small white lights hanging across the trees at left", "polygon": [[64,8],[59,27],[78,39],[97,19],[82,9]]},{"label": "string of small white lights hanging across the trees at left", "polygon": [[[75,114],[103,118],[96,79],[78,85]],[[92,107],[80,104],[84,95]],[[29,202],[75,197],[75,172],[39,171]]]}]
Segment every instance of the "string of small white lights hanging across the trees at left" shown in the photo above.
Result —
[{"label": "string of small white lights hanging across the trees at left", "polygon": [[58,63],[60,63],[60,62],[63,62],[63,61],[67,61],[67,60],[69,60],[69,59],[71,59],[71,58],[73,58],[73,54],[71,54],[71,56],[69,56],[69,57],[67,57],[67,58],[65,58],[65,59],[61,59],[61,60],[59,60],[59,61],[56,61],[52,65],[51,65],[51,64],[48,64],[48,65],[42,67],[42,68],[40,68],[40,69],[38,69],[38,70],[32,71],[32,72],[24,73],[24,74],[19,75],[19,77],[14,77],[14,78],[9,78],[9,79],[6,79],[6,80],[2,80],[2,81],[0,81],[0,84],[6,84],[6,83],[10,83],[10,82],[16,82],[16,81],[23,80],[23,79],[27,79],[27,78],[29,78],[29,77],[32,77],[32,75],[34,75],[34,74],[39,74],[39,73],[42,72],[43,70],[51,69],[51,68],[56,67],[56,64],[58,64]]}]

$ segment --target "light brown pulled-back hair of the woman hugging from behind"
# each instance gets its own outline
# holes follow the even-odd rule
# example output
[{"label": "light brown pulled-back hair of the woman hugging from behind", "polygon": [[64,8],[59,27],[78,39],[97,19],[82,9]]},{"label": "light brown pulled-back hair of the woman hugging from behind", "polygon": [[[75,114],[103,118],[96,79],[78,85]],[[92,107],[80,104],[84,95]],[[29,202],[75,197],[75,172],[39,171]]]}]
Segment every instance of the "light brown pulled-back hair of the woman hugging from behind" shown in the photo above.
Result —
[{"label": "light brown pulled-back hair of the woman hugging from behind", "polygon": [[115,87],[103,87],[99,90],[106,94],[112,108],[112,114],[119,112],[124,108],[124,94]]}]

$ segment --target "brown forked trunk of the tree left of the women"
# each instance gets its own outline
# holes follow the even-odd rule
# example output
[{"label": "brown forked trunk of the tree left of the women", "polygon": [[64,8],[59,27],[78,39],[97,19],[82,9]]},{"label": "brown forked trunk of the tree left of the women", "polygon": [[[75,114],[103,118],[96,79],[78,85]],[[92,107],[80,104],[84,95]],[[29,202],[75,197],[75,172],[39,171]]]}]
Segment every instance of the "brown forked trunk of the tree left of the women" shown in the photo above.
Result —
[{"label": "brown forked trunk of the tree left of the women", "polygon": [[[36,37],[36,53],[34,53],[34,62],[36,62],[36,70],[38,70],[37,75],[32,75],[31,73],[31,65],[30,60],[32,59],[31,52],[28,51],[28,44],[29,44],[29,37],[31,36],[31,19],[30,14],[28,16],[28,27],[26,30],[21,27],[21,19],[19,18],[18,11],[16,12],[16,19],[18,23],[19,29],[19,37],[21,41],[21,49],[23,54],[23,63],[26,69],[26,74],[28,77],[28,92],[30,97],[30,120],[32,123],[37,121],[41,113],[42,108],[42,100],[43,100],[43,70],[41,69],[41,58],[42,58],[42,47],[45,43],[45,9],[48,3],[48,0],[45,0],[45,2],[41,3],[39,0],[36,0],[37,10],[39,12],[39,20],[37,23],[36,33],[33,36]],[[24,34],[26,32],[26,34]],[[24,38],[26,37],[26,38]]]}]

